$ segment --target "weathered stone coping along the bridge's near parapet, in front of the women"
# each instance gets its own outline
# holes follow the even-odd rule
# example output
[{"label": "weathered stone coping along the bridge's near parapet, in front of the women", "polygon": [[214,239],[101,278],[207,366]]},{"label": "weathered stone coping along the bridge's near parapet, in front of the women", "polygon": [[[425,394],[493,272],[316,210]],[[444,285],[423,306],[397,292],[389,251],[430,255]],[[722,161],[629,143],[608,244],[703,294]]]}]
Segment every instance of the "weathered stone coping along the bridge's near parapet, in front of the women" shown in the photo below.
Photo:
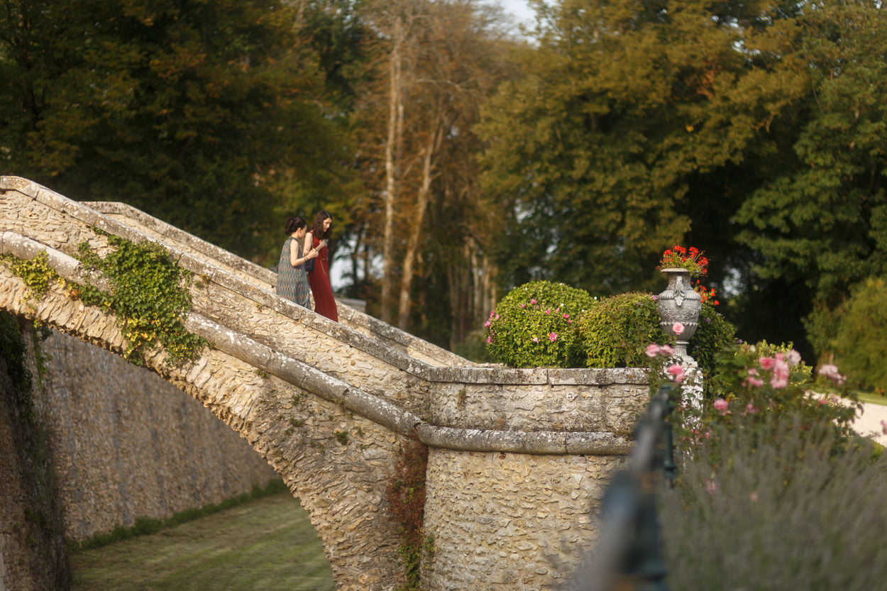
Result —
[{"label": "weathered stone coping along the bridge's near parapet, in front of the women", "polygon": [[[405,372],[413,374],[428,382],[456,382],[475,384],[576,384],[576,385],[608,385],[614,383],[643,384],[648,382],[647,372],[640,368],[546,368],[532,369],[501,368],[501,367],[436,367],[429,366],[419,359],[413,359],[404,352],[381,343],[373,338],[363,335],[356,330],[345,327],[339,322],[327,319],[314,311],[306,310],[302,306],[280,298],[269,291],[257,288],[239,279],[231,272],[212,264],[204,263],[188,253],[169,245],[158,242],[146,236],[130,226],[106,217],[104,214],[89,206],[72,201],[67,197],[52,191],[42,185],[21,177],[0,177],[0,192],[17,191],[31,197],[54,209],[59,209],[71,217],[75,217],[86,225],[94,225],[102,230],[121,236],[127,240],[141,242],[149,240],[159,243],[177,259],[184,269],[200,275],[204,280],[215,281],[218,285],[230,289],[239,296],[246,297],[255,303],[267,306],[279,313],[298,320],[304,325],[310,326],[320,333],[347,343],[360,351],[372,355],[391,366],[395,366]],[[130,206],[125,206],[130,207]],[[158,220],[159,222],[159,220]],[[164,224],[160,222],[161,224]],[[172,227],[172,226],[170,226]],[[181,232],[180,230],[178,232]],[[47,248],[47,247],[43,247]],[[229,253],[230,255],[230,253]],[[231,255],[233,256],[233,255]],[[258,267],[258,265],[255,265]],[[270,273],[270,272],[269,272]],[[370,317],[371,318],[371,317]],[[389,327],[381,320],[380,324]],[[397,331],[394,327],[389,327]],[[401,331],[403,332],[403,331]],[[412,335],[411,335],[412,336]],[[415,337],[412,337],[415,338]]]}]

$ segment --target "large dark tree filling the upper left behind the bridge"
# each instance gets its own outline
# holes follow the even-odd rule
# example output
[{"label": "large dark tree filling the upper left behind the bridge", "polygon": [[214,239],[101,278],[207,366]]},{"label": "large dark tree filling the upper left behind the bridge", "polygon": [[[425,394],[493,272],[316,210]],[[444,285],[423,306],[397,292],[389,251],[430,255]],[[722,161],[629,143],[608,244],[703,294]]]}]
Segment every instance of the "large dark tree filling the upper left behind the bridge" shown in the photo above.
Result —
[{"label": "large dark tree filling the upper left behind the bridge", "polygon": [[0,156],[14,174],[255,256],[278,241],[279,177],[318,193],[347,161],[286,3],[4,4]]}]

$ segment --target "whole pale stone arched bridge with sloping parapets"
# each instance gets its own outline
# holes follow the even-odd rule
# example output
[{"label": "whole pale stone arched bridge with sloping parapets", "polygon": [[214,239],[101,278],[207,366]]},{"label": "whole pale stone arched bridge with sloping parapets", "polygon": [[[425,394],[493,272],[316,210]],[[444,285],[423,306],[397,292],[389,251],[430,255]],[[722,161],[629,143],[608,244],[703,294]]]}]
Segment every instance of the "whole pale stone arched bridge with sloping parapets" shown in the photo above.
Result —
[{"label": "whole pale stone arched bridge with sloping parapets", "polygon": [[[195,278],[185,326],[209,346],[145,365],[245,437],[307,509],[341,590],[403,584],[386,488],[404,445],[428,446],[422,586],[554,589],[595,538],[608,473],[631,447],[647,377],[634,369],[474,366],[340,304],[341,322],[275,296],[275,275],[113,202],[0,177],[0,255],[46,252],[69,281],[107,234],[153,241]],[[56,282],[40,299],[0,261],[0,308],[122,353],[114,315]],[[162,429],[162,425],[159,425]]]}]

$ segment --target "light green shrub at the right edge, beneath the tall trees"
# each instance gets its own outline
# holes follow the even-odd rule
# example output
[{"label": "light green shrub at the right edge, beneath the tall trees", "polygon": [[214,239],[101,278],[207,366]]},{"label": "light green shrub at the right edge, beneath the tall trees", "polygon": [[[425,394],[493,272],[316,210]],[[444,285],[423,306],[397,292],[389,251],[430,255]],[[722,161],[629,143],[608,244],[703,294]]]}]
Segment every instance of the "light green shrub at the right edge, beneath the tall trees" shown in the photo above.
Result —
[{"label": "light green shrub at the right edge, beneath the tall trees", "polygon": [[820,359],[834,359],[854,385],[887,386],[887,280],[870,277],[835,311],[820,308],[807,328]]}]

